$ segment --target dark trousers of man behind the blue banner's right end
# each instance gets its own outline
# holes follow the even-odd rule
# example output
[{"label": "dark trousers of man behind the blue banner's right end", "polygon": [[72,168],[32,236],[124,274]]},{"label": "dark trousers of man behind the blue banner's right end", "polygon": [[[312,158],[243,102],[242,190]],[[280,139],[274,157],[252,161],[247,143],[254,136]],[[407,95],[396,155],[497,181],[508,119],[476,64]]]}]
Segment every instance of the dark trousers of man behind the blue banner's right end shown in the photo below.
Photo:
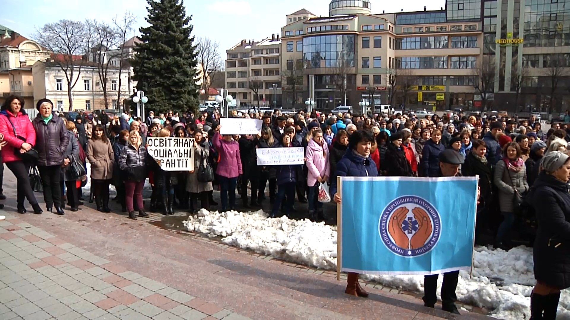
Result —
[{"label": "dark trousers of man behind the blue banner's right end", "polygon": [[[439,274],[424,276],[424,303],[426,306],[433,306],[437,302],[437,278]],[[457,301],[455,288],[457,288],[457,279],[459,271],[443,273],[443,284],[441,286],[441,302],[443,307],[450,307]]]}]

